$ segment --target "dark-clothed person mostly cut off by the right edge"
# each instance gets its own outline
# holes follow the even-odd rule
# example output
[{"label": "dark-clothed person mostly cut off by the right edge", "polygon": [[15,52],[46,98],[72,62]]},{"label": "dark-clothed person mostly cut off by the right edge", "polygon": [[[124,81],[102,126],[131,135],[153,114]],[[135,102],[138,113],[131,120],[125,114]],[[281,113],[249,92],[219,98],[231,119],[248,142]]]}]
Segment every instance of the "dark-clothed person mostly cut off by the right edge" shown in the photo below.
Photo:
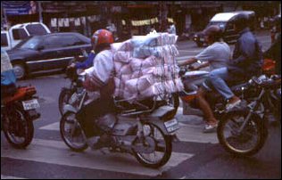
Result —
[{"label": "dark-clothed person mostly cut off by the right edge", "polygon": [[263,57],[276,61],[275,73],[281,75],[281,16],[279,15],[275,17],[275,26],[278,35],[270,49],[263,53]]}]

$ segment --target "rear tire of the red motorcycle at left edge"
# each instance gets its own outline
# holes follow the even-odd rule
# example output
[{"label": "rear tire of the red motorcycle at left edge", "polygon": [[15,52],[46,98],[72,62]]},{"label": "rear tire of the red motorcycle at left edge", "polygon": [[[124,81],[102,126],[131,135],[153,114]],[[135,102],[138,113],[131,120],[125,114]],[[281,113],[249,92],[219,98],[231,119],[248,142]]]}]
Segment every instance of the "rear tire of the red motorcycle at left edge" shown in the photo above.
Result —
[{"label": "rear tire of the red motorcycle at left edge", "polygon": [[33,122],[20,105],[9,107],[9,109],[4,114],[4,135],[14,148],[24,149],[32,141],[34,135]]}]

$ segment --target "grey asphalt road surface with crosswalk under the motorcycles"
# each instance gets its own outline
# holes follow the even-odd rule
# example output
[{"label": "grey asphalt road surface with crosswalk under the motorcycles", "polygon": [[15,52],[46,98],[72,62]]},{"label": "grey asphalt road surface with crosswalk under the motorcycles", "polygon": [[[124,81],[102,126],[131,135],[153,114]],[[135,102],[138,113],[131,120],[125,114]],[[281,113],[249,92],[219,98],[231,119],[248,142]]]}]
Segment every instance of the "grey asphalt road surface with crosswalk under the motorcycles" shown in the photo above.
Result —
[{"label": "grey asphalt road surface with crosswalk under the motorcycles", "polygon": [[[269,47],[268,34],[259,39],[264,49]],[[178,61],[202,49],[191,41],[178,42]],[[180,142],[173,144],[171,159],[162,168],[144,168],[129,154],[70,151],[58,131],[58,96],[70,83],[63,77],[44,73],[19,82],[37,87],[41,118],[34,122],[35,137],[26,150],[13,149],[1,134],[1,178],[281,178],[281,126],[269,127],[267,142],[255,156],[236,158],[222,149],[215,133],[202,133],[202,118],[184,116],[181,109],[176,116]]]}]

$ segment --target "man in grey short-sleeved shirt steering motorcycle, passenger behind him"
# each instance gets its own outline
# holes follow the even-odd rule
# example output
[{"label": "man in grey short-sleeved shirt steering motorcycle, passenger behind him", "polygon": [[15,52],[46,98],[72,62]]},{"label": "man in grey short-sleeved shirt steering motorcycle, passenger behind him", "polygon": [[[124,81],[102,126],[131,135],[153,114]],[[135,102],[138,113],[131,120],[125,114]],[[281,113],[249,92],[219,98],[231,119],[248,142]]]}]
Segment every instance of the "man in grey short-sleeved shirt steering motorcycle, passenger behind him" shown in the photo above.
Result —
[{"label": "man in grey short-sleeved shirt steering motorcycle, passenger behind him", "polygon": [[[196,61],[203,61],[201,65],[193,67],[193,70],[199,70],[207,66],[210,66],[211,70],[226,67],[231,57],[231,50],[230,47],[221,40],[220,28],[218,26],[211,25],[207,29],[203,30],[203,36],[209,46],[195,57],[190,58],[187,61],[180,62],[178,65],[184,66],[195,63]],[[203,133],[210,133],[217,127],[218,120],[215,119],[209,102],[205,100],[206,93],[206,88],[204,86],[200,86],[197,91],[196,100],[201,110],[203,110],[203,114],[206,119],[206,125],[203,128]]]}]

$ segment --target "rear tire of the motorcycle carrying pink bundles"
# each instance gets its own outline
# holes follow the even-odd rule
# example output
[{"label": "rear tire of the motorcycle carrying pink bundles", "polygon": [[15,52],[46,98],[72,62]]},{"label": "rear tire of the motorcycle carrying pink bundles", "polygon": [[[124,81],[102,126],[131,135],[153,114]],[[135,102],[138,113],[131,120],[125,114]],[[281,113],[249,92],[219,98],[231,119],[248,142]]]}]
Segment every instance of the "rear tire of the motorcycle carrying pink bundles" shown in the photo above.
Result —
[{"label": "rear tire of the motorcycle carrying pink bundles", "polygon": [[[147,155],[147,154],[141,154],[137,151],[133,151],[133,154],[135,155],[138,162],[141,163],[143,166],[145,166],[147,168],[160,168],[170,160],[171,151],[172,151],[172,138],[171,138],[170,135],[164,135],[164,133],[162,132],[162,129],[160,127],[153,125],[152,123],[149,123],[149,122],[145,123],[144,127],[145,126],[150,127],[149,136],[151,136],[151,137],[153,137],[153,134],[155,134],[156,130],[161,133],[160,135],[163,138],[163,142],[159,142],[159,143],[162,143],[162,144],[165,145],[164,149],[163,149],[162,146],[158,146],[158,140],[156,139],[156,137],[153,137],[154,142],[156,143],[155,148],[154,148],[155,151],[153,151],[153,153],[155,155],[155,153],[159,149],[159,150],[163,151],[163,155],[162,155],[160,160],[153,162],[153,161],[145,159],[145,155]],[[152,153],[149,153],[149,154],[152,154]]]}]

